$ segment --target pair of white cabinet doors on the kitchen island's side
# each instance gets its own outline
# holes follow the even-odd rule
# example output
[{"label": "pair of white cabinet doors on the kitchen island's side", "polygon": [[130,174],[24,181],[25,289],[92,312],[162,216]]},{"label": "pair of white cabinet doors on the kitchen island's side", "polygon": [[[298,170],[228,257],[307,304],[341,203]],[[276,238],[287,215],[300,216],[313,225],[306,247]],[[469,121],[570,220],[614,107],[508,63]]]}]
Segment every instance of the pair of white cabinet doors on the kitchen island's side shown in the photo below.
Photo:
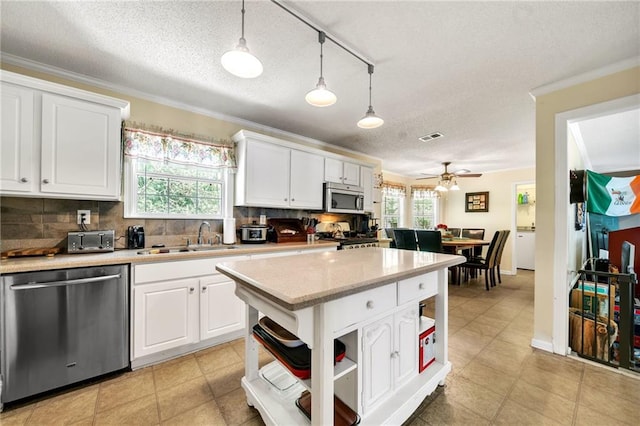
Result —
[{"label": "pair of white cabinet doors on the kitchen island's side", "polygon": [[364,413],[418,374],[418,323],[418,310],[410,307],[362,328]]}]

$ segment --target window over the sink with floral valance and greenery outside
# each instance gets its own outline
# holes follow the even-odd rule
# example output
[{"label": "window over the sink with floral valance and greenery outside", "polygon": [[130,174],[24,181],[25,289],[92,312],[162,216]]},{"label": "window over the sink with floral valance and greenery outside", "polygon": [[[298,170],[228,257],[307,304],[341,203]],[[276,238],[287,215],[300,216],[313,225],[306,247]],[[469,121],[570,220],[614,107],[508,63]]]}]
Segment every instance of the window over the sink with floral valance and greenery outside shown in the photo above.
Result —
[{"label": "window over the sink with floral valance and greenery outside", "polygon": [[125,127],[125,217],[221,219],[232,200],[231,145]]}]

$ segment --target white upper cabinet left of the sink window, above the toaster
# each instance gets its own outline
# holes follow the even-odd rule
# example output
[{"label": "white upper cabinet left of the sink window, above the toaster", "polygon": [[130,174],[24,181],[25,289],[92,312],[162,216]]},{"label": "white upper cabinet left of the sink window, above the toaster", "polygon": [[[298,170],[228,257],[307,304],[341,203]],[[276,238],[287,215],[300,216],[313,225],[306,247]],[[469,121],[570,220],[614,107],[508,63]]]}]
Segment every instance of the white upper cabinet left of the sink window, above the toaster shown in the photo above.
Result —
[{"label": "white upper cabinet left of the sink window, above the toaster", "polygon": [[118,200],[129,103],[2,71],[2,195]]}]

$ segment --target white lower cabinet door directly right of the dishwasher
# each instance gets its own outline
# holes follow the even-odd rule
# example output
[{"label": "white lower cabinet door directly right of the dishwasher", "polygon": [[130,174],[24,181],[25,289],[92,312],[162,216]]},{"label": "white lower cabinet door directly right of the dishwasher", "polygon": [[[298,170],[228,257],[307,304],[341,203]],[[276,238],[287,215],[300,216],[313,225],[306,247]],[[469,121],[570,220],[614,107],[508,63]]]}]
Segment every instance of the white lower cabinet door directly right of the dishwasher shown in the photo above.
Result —
[{"label": "white lower cabinet door directly right of the dishwasher", "polygon": [[133,357],[198,341],[198,280],[134,286]]}]

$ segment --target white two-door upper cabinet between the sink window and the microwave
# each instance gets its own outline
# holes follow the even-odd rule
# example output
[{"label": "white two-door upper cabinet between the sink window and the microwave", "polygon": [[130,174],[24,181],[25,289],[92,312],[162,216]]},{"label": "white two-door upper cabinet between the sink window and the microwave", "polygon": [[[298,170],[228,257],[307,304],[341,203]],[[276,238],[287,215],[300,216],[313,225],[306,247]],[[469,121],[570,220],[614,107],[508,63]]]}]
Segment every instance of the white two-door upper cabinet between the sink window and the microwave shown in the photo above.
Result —
[{"label": "white two-door upper cabinet between the sink window and the microwave", "polygon": [[238,144],[236,205],[322,209],[322,156],[244,130],[233,139]]}]

